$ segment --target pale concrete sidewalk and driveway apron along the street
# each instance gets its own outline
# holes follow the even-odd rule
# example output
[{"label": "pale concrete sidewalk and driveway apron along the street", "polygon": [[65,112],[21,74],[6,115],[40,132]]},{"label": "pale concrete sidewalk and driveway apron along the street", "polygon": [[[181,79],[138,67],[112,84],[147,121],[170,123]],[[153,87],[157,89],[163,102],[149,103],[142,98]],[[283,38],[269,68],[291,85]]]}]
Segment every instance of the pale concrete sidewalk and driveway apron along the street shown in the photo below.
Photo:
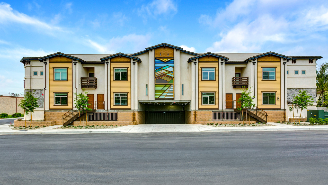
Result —
[{"label": "pale concrete sidewalk and driveway apron along the street", "polygon": [[53,129],[54,125],[36,130],[12,130],[8,124],[0,125],[1,134],[85,134],[85,133],[146,133],[146,132],[241,132],[241,131],[292,131],[292,130],[328,130],[328,125],[293,126],[281,123],[269,123],[276,126],[253,127],[213,127],[208,125],[128,125],[109,129]]}]

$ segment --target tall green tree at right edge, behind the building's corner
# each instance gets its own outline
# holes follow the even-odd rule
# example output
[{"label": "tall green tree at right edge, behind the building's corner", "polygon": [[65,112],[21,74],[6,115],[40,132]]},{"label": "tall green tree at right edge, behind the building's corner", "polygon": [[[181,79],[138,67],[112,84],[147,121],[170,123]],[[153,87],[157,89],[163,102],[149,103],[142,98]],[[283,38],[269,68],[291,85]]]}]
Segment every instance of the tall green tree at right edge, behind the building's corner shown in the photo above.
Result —
[{"label": "tall green tree at right edge, behind the building's corner", "polygon": [[328,89],[328,63],[324,63],[319,65],[316,70],[316,85],[317,85],[317,92],[320,92],[321,98],[321,106],[323,106],[323,94]]}]

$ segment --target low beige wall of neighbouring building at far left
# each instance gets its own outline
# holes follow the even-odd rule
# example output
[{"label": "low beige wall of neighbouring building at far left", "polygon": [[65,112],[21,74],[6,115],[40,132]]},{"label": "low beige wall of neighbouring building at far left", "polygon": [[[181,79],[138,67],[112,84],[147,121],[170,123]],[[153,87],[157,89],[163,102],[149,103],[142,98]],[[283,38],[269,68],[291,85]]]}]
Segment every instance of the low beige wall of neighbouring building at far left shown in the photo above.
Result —
[{"label": "low beige wall of neighbouring building at far left", "polygon": [[6,113],[12,115],[13,113],[19,112],[24,114],[22,108],[18,106],[20,100],[23,97],[13,97],[13,96],[0,96],[0,113]]}]

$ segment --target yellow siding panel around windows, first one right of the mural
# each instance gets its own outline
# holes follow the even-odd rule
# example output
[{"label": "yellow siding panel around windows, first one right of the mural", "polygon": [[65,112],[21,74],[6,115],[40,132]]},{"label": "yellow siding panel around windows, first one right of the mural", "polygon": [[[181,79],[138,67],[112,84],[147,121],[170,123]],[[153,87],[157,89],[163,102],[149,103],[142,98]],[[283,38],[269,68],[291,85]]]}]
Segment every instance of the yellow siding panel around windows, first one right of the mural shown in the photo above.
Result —
[{"label": "yellow siding panel around windows, first one right of the mural", "polygon": [[[218,109],[219,108],[219,63],[215,62],[202,62],[198,63],[198,108],[201,109]],[[202,68],[201,67],[216,67],[215,68],[215,81],[202,81]],[[215,92],[215,105],[202,105],[201,92]]]}]

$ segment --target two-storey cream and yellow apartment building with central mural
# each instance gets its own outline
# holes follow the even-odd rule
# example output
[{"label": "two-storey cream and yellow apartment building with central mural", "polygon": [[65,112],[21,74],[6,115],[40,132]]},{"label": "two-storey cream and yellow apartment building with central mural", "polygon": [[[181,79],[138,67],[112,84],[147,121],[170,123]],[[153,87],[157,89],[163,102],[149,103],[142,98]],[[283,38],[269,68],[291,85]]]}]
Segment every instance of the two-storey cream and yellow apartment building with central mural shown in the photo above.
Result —
[{"label": "two-storey cream and yellow apartment building with central mural", "polygon": [[288,120],[288,101],[299,89],[316,98],[320,58],[275,52],[194,53],[162,43],[133,54],[58,52],[21,62],[25,91],[39,100],[33,119],[71,123],[79,117],[75,93],[85,91],[90,121],[206,124],[241,120],[237,100],[244,88],[255,97],[256,106],[244,110],[251,120]]}]

